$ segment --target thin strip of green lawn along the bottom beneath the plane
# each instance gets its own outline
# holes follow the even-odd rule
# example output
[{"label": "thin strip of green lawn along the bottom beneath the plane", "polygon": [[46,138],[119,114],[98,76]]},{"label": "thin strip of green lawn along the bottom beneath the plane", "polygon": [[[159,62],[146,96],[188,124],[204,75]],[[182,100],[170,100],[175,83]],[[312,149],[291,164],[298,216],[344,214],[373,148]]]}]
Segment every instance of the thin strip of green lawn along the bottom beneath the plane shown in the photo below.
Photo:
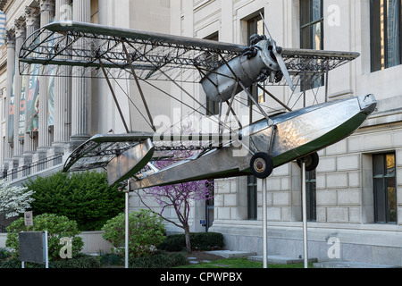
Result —
[{"label": "thin strip of green lawn along the bottom beneath the plane", "polygon": [[[303,268],[303,264],[297,265],[270,265],[268,268]],[[313,264],[308,265],[313,268]],[[225,258],[215,260],[208,263],[200,263],[197,265],[183,265],[175,268],[263,268],[262,262],[249,261],[247,258]]]}]

